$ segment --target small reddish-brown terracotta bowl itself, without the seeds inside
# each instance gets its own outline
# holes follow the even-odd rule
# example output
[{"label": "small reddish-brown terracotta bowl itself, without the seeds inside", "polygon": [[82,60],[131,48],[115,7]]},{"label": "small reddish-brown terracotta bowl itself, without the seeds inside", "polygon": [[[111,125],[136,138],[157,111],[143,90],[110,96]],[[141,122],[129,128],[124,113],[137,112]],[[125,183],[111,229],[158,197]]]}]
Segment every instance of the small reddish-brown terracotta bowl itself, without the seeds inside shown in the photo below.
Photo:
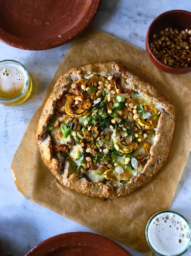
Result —
[{"label": "small reddish-brown terracotta bowl itself, without the seeds inside", "polygon": [[[165,28],[170,28],[170,27],[173,28],[173,30],[178,29],[179,33],[181,33],[182,30],[185,30],[185,28],[191,29],[191,12],[183,11],[183,10],[171,10],[171,11],[162,13],[161,15],[156,17],[155,20],[152,21],[150,27],[148,28],[146,40],[145,40],[148,57],[152,61],[152,63],[163,72],[166,72],[169,74],[189,73],[191,72],[190,64],[186,68],[170,67],[167,64],[161,62],[159,59],[157,59],[151,50],[151,47],[150,47],[151,42],[157,41],[157,39],[160,39],[161,37],[161,35],[159,34],[159,31],[164,31]],[[156,34],[155,39],[153,39],[153,34]],[[189,42],[190,37],[191,37],[191,34],[188,34],[187,38],[182,40]],[[171,38],[169,39],[170,41],[172,41]],[[160,50],[161,50],[161,45],[158,51]]]}]

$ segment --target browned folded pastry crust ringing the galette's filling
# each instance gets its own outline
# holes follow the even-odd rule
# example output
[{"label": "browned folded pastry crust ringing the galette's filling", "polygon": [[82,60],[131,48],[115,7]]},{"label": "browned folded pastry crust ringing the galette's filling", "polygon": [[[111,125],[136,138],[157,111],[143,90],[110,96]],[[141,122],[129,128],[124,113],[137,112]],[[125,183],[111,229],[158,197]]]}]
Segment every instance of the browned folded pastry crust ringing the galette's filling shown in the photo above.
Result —
[{"label": "browned folded pastry crust ringing the galette's filling", "polygon": [[[70,161],[67,158],[63,161],[62,158],[58,158],[53,154],[55,143],[47,128],[55,114],[57,104],[62,101],[63,95],[78,95],[78,93],[80,95],[80,88],[72,88],[72,83],[92,74],[103,77],[123,77],[131,91],[138,92],[141,97],[146,97],[149,102],[156,102],[161,108],[155,129],[157,139],[150,147],[147,162],[136,177],[132,176],[130,180],[123,184],[115,183],[112,180],[106,180],[105,182],[100,180],[90,181],[86,177],[72,173]],[[63,115],[66,115],[66,113],[63,113]],[[128,72],[117,63],[95,63],[72,68],[59,77],[39,119],[36,141],[44,164],[64,186],[89,196],[116,198],[126,196],[144,186],[161,169],[169,153],[174,125],[174,106],[159,90]]]}]

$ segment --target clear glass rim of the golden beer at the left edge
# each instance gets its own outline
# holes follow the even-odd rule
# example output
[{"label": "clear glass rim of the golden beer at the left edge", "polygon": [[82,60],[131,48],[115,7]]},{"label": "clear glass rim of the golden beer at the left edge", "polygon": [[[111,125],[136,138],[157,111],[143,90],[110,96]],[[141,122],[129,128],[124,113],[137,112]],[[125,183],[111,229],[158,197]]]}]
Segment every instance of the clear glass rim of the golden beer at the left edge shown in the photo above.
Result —
[{"label": "clear glass rim of the golden beer at the left edge", "polygon": [[23,71],[25,72],[25,75],[26,75],[26,83],[25,83],[25,86],[22,90],[21,93],[19,93],[17,96],[15,96],[14,98],[9,98],[9,99],[4,99],[4,98],[0,98],[0,101],[1,102],[14,102],[16,100],[18,100],[19,98],[21,98],[23,96],[23,94],[26,92],[26,90],[28,89],[28,86],[29,86],[29,74],[26,70],[26,68],[20,63],[18,62],[17,60],[13,60],[13,59],[4,59],[4,60],[1,60],[0,61],[0,66],[4,63],[15,63],[17,65],[19,65],[20,67],[22,67]]}]

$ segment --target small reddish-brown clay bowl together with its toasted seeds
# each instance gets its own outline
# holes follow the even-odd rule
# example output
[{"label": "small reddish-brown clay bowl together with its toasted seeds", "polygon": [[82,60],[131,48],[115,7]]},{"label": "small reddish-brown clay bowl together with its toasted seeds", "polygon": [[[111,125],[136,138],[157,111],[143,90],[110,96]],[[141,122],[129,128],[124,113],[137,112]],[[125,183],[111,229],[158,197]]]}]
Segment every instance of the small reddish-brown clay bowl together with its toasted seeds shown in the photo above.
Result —
[{"label": "small reddish-brown clay bowl together with its toasted seeds", "polygon": [[163,72],[191,72],[191,12],[172,10],[156,17],[145,45],[149,59]]}]

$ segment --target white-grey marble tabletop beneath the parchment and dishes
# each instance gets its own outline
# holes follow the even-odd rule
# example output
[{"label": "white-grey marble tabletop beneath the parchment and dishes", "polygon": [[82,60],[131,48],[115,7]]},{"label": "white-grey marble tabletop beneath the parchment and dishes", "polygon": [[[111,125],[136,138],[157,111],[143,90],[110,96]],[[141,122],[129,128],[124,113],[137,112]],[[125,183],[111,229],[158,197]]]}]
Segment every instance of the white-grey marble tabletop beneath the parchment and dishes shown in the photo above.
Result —
[{"label": "white-grey marble tabletop beneath the parchment and dishes", "polygon": [[[91,26],[145,50],[145,36],[152,20],[162,12],[173,9],[191,11],[191,1],[103,0]],[[16,107],[0,105],[0,241],[3,255],[24,255],[39,242],[60,233],[93,232],[26,199],[18,192],[10,171],[12,158],[27,125],[41,105],[46,88],[70,45],[71,43],[67,43],[51,50],[30,51],[0,42],[0,60],[15,59],[21,62],[33,80],[32,94],[25,103]],[[170,206],[171,210],[183,214],[189,222],[191,222],[190,163],[191,157],[185,166]],[[131,248],[125,248],[133,256],[144,255]],[[191,249],[185,253],[185,256],[189,255]]]}]

